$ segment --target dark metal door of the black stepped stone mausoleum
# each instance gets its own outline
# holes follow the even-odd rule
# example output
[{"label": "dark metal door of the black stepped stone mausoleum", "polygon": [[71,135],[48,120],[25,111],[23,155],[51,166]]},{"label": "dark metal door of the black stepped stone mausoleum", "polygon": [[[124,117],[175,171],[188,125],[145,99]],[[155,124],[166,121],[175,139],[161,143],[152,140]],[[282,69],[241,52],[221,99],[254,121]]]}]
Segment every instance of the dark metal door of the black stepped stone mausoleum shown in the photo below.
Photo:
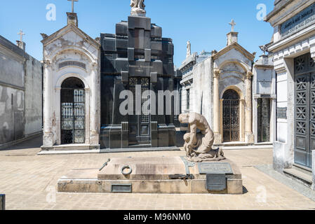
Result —
[{"label": "dark metal door of the black stepped stone mausoleum", "polygon": [[[136,101],[136,85],[141,86],[141,115],[135,115],[135,101]],[[149,78],[130,78],[129,90],[133,92],[133,106],[134,115],[129,116],[129,144],[146,144],[151,139],[150,122],[151,116],[145,115],[149,111],[149,105],[145,105],[149,97],[142,96],[143,92],[150,90]]]}]

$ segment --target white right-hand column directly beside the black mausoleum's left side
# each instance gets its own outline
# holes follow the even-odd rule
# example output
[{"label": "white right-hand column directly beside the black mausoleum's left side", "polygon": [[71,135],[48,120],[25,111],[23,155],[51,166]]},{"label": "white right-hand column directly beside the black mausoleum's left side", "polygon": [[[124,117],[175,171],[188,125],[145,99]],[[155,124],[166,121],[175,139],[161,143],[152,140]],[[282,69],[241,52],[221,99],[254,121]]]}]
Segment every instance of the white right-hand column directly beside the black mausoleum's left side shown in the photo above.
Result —
[{"label": "white right-hand column directly beside the black mausoleum's left side", "polygon": [[98,104],[100,104],[98,95],[100,94],[98,90],[99,78],[98,78],[98,63],[91,64],[91,133],[90,133],[90,144],[93,146],[99,145],[99,125],[100,125],[100,109]]}]

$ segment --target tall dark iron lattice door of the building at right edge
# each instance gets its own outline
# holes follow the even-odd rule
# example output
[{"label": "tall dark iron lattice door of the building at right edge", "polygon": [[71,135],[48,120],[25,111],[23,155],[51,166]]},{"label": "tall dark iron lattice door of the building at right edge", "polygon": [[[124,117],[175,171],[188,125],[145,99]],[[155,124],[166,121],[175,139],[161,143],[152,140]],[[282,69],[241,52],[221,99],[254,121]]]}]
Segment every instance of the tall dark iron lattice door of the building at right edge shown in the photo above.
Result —
[{"label": "tall dark iron lattice door of the building at right edge", "polygon": [[311,167],[315,148],[315,73],[309,54],[295,59],[295,163]]}]

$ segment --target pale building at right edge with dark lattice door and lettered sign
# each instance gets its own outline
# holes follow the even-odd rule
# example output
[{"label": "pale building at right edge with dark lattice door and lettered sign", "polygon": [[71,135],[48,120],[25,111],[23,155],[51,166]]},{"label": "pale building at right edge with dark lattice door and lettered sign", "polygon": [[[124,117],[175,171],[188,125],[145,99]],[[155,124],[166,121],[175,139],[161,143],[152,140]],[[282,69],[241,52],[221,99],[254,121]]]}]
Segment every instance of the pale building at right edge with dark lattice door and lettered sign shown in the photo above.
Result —
[{"label": "pale building at right edge with dark lattice door and lettered sign", "polygon": [[274,169],[307,186],[315,179],[315,1],[276,0],[265,18],[276,71]]}]

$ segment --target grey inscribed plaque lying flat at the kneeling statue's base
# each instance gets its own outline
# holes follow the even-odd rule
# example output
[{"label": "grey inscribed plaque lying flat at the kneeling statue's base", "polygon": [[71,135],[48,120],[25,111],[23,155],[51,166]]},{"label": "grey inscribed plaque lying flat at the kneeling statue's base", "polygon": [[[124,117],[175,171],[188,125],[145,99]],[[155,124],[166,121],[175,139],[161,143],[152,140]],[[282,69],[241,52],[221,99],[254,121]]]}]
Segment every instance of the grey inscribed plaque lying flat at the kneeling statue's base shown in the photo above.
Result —
[{"label": "grey inscribed plaque lying flat at the kneeling statue's base", "polygon": [[199,174],[233,174],[232,167],[227,162],[201,162],[198,168]]}]

